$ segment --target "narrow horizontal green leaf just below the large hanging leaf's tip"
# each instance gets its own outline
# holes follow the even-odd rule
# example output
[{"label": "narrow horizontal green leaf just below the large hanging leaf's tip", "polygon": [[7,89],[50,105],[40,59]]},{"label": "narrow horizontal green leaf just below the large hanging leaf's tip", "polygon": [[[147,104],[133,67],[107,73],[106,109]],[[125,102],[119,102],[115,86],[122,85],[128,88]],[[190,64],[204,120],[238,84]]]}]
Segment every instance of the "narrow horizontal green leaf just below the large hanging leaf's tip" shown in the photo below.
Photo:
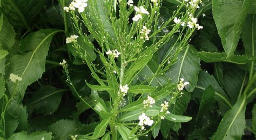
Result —
[{"label": "narrow horizontal green leaf just below the large hanging leaf's tip", "polygon": [[246,64],[250,61],[252,61],[253,57],[247,57],[242,55],[231,55],[227,57],[225,53],[210,53],[201,51],[198,53],[198,56],[203,60],[204,62],[210,63],[210,62],[228,62],[228,63],[235,63],[235,64]]}]

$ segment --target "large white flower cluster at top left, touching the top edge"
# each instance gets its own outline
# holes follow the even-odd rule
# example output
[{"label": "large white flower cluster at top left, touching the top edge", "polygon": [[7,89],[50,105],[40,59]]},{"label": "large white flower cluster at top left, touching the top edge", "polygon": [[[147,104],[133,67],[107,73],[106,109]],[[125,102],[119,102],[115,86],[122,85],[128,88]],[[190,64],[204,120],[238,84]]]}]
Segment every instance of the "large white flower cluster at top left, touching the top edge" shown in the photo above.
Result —
[{"label": "large white flower cluster at top left, touching the top edge", "polygon": [[73,0],[73,2],[70,3],[69,7],[65,6],[63,9],[66,12],[69,12],[69,10],[75,11],[76,8],[78,9],[79,13],[82,13],[84,11],[84,8],[87,6],[87,0]]}]

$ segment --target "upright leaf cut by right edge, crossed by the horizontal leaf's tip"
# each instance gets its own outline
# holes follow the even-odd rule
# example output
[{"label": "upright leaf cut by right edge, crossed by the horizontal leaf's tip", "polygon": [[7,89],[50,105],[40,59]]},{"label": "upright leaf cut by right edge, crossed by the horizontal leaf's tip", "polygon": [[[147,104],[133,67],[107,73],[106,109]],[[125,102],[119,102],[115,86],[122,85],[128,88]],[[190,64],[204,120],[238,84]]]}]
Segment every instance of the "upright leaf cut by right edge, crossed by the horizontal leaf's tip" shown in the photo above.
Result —
[{"label": "upright leaf cut by right edge, crossed by the horizontal leaf's tip", "polygon": [[[255,2],[255,1],[254,1]],[[256,2],[255,2],[256,5]],[[245,54],[247,56],[256,56],[256,14],[248,14],[241,33],[242,42],[244,43]],[[256,69],[255,60],[248,64],[250,78]]]}]

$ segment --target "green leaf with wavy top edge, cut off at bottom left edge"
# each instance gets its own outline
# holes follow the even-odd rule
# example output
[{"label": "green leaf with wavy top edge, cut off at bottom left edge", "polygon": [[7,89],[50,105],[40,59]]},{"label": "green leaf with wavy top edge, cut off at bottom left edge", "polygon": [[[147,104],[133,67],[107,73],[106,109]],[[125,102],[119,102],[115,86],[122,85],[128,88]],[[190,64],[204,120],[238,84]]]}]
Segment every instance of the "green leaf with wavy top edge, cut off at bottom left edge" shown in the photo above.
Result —
[{"label": "green leaf with wavy top edge, cut off at bottom left edge", "polygon": [[15,133],[9,138],[9,140],[19,140],[19,139],[51,140],[51,132],[33,132],[31,134],[28,134],[28,132],[22,131],[22,132]]}]

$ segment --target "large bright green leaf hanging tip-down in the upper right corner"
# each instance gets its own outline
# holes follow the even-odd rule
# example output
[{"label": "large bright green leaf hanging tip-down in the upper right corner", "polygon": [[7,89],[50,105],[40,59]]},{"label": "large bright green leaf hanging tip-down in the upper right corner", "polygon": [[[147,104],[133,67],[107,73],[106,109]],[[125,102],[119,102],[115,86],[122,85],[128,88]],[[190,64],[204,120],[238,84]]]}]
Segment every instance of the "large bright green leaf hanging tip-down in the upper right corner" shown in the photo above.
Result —
[{"label": "large bright green leaf hanging tip-down in the upper right corner", "polygon": [[213,18],[227,57],[232,56],[237,48],[242,25],[250,10],[251,2],[251,0],[228,2],[213,0]]}]

